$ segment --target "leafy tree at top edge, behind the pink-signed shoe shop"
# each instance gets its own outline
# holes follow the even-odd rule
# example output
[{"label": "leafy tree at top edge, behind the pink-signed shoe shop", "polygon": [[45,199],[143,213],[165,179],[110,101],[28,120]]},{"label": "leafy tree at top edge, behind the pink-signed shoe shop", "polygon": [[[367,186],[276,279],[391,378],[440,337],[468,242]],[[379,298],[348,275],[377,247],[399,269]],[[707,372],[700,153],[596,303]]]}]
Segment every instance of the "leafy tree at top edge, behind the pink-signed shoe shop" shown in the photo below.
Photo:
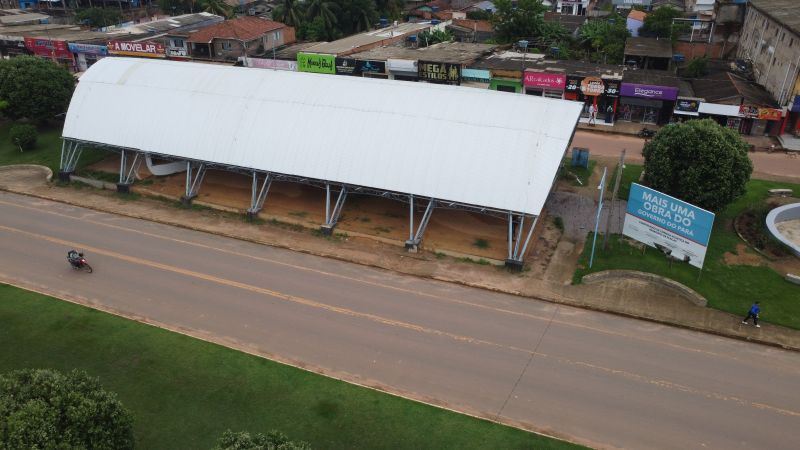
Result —
[{"label": "leafy tree at top edge, behind the pink-signed shoe shop", "polygon": [[492,24],[498,42],[512,43],[542,35],[547,7],[541,0],[519,0],[516,7],[511,0],[495,0],[497,11],[492,14]]}]

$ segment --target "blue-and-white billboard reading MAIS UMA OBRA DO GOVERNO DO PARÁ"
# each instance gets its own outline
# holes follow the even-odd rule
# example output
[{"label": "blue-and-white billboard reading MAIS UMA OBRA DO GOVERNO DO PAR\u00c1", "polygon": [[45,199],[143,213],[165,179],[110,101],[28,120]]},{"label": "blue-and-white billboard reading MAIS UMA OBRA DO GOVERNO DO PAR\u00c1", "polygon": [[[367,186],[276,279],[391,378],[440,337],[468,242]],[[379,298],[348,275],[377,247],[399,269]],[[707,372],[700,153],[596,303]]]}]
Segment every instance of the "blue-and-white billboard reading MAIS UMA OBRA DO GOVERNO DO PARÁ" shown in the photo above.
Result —
[{"label": "blue-and-white billboard reading MAIS UMA OBRA DO GOVERNO DO PAR\u00c1", "polygon": [[714,213],[633,183],[622,234],[702,269],[713,225]]}]

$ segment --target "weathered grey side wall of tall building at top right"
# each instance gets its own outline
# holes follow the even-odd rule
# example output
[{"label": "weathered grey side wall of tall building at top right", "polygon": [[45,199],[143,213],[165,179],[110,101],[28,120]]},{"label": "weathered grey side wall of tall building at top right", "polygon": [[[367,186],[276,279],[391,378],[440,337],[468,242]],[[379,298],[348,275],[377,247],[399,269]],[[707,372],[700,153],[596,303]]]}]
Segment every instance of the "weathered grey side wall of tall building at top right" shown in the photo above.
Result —
[{"label": "weathered grey side wall of tall building at top right", "polygon": [[752,6],[747,8],[737,56],[753,61],[756,82],[781,106],[791,102],[798,78],[800,36]]}]

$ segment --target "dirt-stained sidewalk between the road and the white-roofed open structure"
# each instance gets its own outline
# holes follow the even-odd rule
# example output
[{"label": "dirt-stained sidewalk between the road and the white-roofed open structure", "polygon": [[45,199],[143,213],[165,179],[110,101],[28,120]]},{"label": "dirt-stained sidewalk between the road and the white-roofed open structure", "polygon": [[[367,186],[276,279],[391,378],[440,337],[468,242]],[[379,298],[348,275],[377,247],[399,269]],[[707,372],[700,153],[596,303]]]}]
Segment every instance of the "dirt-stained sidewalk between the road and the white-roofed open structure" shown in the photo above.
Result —
[{"label": "dirt-stained sidewalk between the road and the white-roofed open structure", "polygon": [[729,313],[694,305],[677,290],[643,280],[612,279],[591,285],[569,284],[571,268],[582,243],[562,239],[543,277],[537,271],[515,274],[440,258],[431,252],[406,253],[402,248],[370,239],[349,237],[342,240],[319,237],[310,230],[287,229],[280,224],[250,224],[240,217],[210,209],[187,210],[163,201],[142,197],[123,200],[117,194],[90,187],[57,187],[46,181],[45,168],[0,167],[0,190],[32,195],[98,211],[205,231],[236,239],[286,248],[294,251],[351,261],[356,264],[392,270],[504,292],[537,300],[620,314],[800,351],[800,331],[764,324],[746,327],[741,318]]}]

